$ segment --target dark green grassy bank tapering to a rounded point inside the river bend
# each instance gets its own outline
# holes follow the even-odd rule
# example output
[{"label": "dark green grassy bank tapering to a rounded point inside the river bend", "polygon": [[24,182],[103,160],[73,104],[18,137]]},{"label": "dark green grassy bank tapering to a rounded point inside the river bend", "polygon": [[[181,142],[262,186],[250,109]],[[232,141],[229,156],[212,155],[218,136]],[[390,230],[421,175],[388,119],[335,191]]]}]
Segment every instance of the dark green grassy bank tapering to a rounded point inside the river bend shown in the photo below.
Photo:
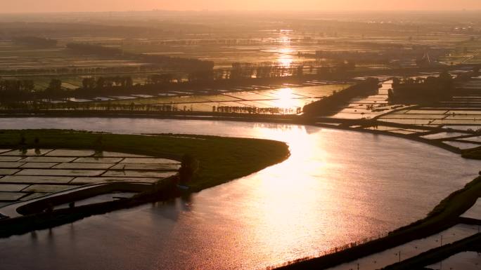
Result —
[{"label": "dark green grassy bank tapering to a rounded point inside the river bend", "polygon": [[[20,138],[25,137],[25,144]],[[35,138],[39,142],[35,143]],[[101,143],[99,143],[101,137]],[[73,130],[1,130],[0,148],[43,147],[98,149],[180,160],[190,154],[199,161],[193,191],[250,175],[285,160],[287,144],[272,140],[200,135],[116,135]]]}]

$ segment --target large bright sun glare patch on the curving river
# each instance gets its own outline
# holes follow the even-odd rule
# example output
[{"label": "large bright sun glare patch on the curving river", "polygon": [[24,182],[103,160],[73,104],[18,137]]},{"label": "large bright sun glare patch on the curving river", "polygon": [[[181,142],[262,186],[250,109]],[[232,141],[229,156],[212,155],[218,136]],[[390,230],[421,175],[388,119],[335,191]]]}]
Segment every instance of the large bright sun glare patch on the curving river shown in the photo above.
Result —
[{"label": "large bright sun glare patch on the curving river", "polygon": [[[291,156],[288,161],[258,173],[256,181],[251,182],[255,187],[252,187],[249,196],[256,198],[253,201],[256,205],[243,208],[245,213],[241,214],[250,217],[250,211],[255,209],[256,214],[252,215],[247,226],[252,229],[249,234],[267,249],[269,246],[276,246],[277,250],[290,250],[292,247],[306,245],[312,241],[309,238],[314,233],[309,231],[309,228],[315,227],[316,222],[319,222],[319,218],[309,215],[309,212],[317,211],[316,208],[323,201],[335,201],[328,198],[333,194],[323,192],[333,189],[333,183],[319,182],[318,178],[329,167],[329,154],[325,151],[314,151],[312,147],[313,144],[325,142],[315,140],[303,126],[291,127],[289,130],[259,128],[258,132],[262,133],[259,136],[275,136],[278,140],[288,142]],[[319,148],[316,147],[318,150]],[[307,157],[313,156],[315,158],[312,161],[307,161]],[[296,168],[302,168],[302,173]],[[262,215],[259,215],[259,212],[262,212]],[[279,245],[283,248],[278,249]],[[316,245],[316,248],[323,248],[323,243]],[[286,256],[289,257],[266,250],[264,255],[269,256],[271,262],[282,262]]]}]

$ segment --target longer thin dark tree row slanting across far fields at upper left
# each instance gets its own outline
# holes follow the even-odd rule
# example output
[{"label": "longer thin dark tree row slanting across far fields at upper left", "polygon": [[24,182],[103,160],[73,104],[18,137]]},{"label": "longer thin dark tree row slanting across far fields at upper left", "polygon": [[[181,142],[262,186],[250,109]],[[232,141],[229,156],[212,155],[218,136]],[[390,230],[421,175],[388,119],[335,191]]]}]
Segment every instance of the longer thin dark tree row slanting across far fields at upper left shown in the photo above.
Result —
[{"label": "longer thin dark tree row slanting across far fields at upper left", "polygon": [[212,70],[214,68],[214,62],[198,60],[193,58],[177,58],[167,55],[146,55],[127,53],[120,48],[113,48],[107,46],[101,46],[98,44],[90,43],[68,43],[67,48],[79,53],[88,53],[93,55],[101,55],[107,57],[123,57],[140,62],[146,62],[159,67],[167,67],[169,69],[179,69],[185,72],[193,71],[205,71]]}]

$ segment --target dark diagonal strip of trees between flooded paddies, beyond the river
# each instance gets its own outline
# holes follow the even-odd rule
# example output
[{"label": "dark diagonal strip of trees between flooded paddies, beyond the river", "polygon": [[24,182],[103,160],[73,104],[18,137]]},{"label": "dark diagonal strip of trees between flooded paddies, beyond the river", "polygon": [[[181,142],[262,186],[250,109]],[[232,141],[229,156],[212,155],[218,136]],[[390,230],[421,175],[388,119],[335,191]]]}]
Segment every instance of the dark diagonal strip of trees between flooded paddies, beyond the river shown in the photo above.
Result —
[{"label": "dark diagonal strip of trees between flooded paddies, beyond the river", "polygon": [[354,97],[371,95],[376,93],[379,88],[379,80],[368,78],[366,81],[357,83],[333,95],[324,97],[322,100],[312,102],[304,106],[302,111],[307,115],[331,115],[335,114],[340,107],[349,102]]}]

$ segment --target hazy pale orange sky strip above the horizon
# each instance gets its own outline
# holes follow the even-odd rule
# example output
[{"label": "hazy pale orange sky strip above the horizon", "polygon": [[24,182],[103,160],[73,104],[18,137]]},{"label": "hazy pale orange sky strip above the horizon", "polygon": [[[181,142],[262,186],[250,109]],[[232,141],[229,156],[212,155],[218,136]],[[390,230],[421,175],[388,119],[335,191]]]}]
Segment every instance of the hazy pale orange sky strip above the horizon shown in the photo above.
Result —
[{"label": "hazy pale orange sky strip above the horizon", "polygon": [[481,0],[0,0],[0,13],[165,10],[481,10]]}]

